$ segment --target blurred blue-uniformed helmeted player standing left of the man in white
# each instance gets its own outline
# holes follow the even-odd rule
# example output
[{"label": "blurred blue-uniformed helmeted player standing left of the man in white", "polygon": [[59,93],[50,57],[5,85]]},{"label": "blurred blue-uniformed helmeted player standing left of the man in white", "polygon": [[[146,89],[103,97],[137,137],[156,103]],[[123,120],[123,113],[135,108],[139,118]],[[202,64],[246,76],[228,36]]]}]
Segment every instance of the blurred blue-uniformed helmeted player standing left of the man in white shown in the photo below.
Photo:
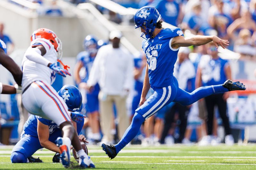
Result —
[{"label": "blurred blue-uniformed helmeted player standing left of the man in white", "polygon": [[83,95],[83,104],[85,105],[86,114],[89,118],[89,126],[92,134],[88,138],[94,143],[100,141],[100,124],[99,124],[99,100],[98,95],[100,86],[98,83],[93,87],[92,92],[87,90],[87,81],[92,69],[92,64],[98,52],[98,39],[94,35],[87,35],[84,39],[85,51],[77,55],[77,63],[74,69],[76,84],[81,89]]}]

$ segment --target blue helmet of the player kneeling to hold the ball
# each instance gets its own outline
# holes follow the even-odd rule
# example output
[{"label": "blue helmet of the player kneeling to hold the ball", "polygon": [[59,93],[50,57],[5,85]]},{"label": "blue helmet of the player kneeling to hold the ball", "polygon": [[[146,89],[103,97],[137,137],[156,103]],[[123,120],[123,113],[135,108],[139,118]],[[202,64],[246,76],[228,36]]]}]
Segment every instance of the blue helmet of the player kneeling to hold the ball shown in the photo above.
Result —
[{"label": "blue helmet of the player kneeling to hold the ball", "polygon": [[64,85],[58,92],[72,112],[82,110],[82,94],[74,85]]}]

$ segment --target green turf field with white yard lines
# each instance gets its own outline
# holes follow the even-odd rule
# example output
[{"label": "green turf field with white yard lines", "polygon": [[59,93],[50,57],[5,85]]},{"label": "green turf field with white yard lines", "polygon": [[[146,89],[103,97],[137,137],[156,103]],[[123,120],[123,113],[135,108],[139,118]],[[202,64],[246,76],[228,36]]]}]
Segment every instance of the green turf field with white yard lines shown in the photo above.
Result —
[{"label": "green turf field with white yard lines", "polygon": [[[88,146],[96,169],[256,169],[256,145],[247,146],[127,146],[110,160],[99,146]],[[64,169],[52,163],[53,152],[44,149],[33,156],[44,163],[12,164],[11,146],[0,147],[0,169]],[[72,161],[76,162],[72,157]],[[69,169],[79,169],[77,163]]]}]

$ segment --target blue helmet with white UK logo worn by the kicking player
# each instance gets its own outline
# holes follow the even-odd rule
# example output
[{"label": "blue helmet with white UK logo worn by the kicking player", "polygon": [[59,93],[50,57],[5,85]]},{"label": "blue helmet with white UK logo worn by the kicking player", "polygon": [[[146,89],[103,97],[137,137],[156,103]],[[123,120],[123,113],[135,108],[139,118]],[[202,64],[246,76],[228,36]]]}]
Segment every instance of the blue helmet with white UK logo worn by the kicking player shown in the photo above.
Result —
[{"label": "blue helmet with white UK logo worn by the kicking player", "polygon": [[[134,15],[135,29],[142,27],[146,32],[142,33],[140,36],[144,38],[143,35],[145,35],[146,38],[144,39],[148,39],[152,37],[152,34],[156,28],[156,23],[160,21],[161,18],[161,15],[155,7],[144,6],[140,8]],[[145,26],[146,29],[143,26]]]}]

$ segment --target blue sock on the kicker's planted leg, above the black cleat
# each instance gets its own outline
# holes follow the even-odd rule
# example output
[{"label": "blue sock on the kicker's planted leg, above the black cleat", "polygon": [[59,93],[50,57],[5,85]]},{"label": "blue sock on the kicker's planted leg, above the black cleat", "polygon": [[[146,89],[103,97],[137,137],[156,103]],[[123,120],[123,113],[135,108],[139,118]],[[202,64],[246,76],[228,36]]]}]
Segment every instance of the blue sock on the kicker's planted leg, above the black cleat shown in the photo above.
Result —
[{"label": "blue sock on the kicker's planted leg, above the black cleat", "polygon": [[126,129],[124,132],[124,136],[122,139],[116,144],[116,154],[121,151],[132,139],[138,134],[140,130],[141,124],[145,121],[142,115],[138,114],[137,112],[134,114],[132,118],[131,125]]}]

